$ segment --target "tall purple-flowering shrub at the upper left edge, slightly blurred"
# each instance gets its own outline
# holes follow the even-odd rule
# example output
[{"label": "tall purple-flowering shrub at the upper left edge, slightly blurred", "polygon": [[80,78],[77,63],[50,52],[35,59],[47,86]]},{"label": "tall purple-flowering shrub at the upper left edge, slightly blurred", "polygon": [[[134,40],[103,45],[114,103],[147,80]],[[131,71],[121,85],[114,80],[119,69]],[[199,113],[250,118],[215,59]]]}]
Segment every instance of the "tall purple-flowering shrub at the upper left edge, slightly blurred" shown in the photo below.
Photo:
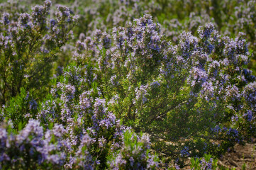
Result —
[{"label": "tall purple-flowering shrub at the upper left edge, slightly blurred", "polygon": [[34,6],[30,14],[13,11],[1,15],[1,105],[19,94],[23,86],[34,89],[48,84],[56,52],[70,39],[77,21],[65,6],[57,6],[56,19],[49,19],[51,5],[45,1],[43,6]]}]

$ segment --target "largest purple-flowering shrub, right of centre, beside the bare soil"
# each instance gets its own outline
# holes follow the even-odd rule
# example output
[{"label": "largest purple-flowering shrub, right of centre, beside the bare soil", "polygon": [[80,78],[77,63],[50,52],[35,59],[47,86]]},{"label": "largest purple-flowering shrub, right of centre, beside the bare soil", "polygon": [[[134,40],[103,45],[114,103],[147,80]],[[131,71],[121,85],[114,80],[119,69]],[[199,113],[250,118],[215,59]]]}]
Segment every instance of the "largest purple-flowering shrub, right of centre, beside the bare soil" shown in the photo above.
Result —
[{"label": "largest purple-flowering shrub, right of centre, beside the bare soil", "polygon": [[[172,45],[145,15],[126,28],[113,28],[111,35],[96,30],[94,39],[78,41],[74,60],[95,65],[94,81],[108,109],[124,123],[153,139],[179,143],[162,150],[165,155],[180,157],[184,145],[182,157],[218,155],[243,140],[241,127],[250,124],[245,101],[252,100],[244,101],[242,94],[255,77],[245,69],[250,53],[243,33],[231,39],[208,23],[198,34],[184,32]],[[243,125],[232,121],[242,115]],[[223,129],[216,132],[219,125]]]}]

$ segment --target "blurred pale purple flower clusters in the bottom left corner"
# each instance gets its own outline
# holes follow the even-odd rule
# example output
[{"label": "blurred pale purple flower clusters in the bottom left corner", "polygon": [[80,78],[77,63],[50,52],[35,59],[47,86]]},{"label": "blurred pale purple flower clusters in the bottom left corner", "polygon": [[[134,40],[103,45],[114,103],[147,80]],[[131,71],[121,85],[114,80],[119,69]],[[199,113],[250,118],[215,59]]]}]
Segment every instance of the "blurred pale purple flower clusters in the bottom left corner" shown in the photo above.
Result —
[{"label": "blurred pale purple flower clusters in the bottom left corner", "polygon": [[[7,130],[10,130],[11,125],[7,126]],[[6,128],[1,128],[1,168],[36,168],[43,164],[62,166],[65,161],[65,145],[60,141],[61,130],[61,126],[55,125],[52,130],[44,132],[38,120],[29,120],[17,135],[9,134]]]}]

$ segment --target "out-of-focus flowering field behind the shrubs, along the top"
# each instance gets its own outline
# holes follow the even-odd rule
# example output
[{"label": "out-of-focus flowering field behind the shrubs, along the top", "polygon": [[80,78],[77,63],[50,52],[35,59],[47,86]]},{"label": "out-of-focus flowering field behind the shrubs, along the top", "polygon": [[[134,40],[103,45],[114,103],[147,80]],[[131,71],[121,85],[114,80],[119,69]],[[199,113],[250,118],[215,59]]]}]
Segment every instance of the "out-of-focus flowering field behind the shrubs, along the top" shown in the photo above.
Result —
[{"label": "out-of-focus flowering field behind the shrubs, along the top", "polygon": [[[31,10],[30,6],[43,4],[35,0],[1,0],[0,15],[3,11],[20,13]],[[221,35],[235,38],[239,32],[245,33],[245,38],[251,53],[249,69],[256,71],[256,1],[255,0],[52,0],[54,13],[57,4],[68,6],[79,15],[79,22],[74,28],[74,39],[63,47],[59,64],[64,66],[69,62],[74,42],[84,36],[89,36],[94,30],[111,32],[113,27],[126,26],[144,13],[152,15],[155,22],[160,23],[162,32],[172,43],[182,31],[196,30],[204,23],[212,22]]]}]

